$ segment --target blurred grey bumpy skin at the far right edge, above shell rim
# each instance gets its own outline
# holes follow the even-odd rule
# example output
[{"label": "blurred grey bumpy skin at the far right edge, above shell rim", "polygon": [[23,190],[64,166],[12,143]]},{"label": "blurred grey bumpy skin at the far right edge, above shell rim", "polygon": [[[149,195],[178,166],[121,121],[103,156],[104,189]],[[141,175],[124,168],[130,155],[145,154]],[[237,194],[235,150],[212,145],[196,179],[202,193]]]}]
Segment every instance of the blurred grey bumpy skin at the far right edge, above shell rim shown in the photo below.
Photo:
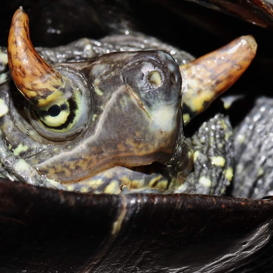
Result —
[{"label": "blurred grey bumpy skin at the far right edge, above shell rim", "polygon": [[268,97],[252,100],[254,106],[234,132],[235,197],[273,195],[273,100]]}]

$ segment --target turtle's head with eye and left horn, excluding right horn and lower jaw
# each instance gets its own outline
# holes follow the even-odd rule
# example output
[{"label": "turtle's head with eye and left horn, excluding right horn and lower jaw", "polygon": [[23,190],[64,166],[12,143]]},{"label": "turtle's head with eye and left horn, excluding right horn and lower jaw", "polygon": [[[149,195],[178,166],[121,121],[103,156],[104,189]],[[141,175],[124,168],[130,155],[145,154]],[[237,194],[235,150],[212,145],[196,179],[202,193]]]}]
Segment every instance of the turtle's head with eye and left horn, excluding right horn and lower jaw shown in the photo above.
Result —
[{"label": "turtle's head with eye and left horn, excluding right horn and lower jaw", "polygon": [[[8,61],[29,102],[32,125],[51,144],[29,159],[40,173],[79,181],[112,166],[169,164],[173,158],[182,133],[181,74],[165,51],[113,52],[49,65],[34,49],[20,7]],[[65,172],[62,162],[81,171]]]}]

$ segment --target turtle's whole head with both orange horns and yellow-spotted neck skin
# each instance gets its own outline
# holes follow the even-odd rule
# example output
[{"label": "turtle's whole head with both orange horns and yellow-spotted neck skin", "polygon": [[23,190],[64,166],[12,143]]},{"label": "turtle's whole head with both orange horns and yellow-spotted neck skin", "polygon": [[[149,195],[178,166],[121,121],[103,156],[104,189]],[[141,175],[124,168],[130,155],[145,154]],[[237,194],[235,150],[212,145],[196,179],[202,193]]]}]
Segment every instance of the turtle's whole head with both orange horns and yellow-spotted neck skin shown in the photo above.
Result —
[{"label": "turtle's whole head with both orange horns and yellow-spotted neck skin", "polygon": [[242,36],[180,67],[159,50],[49,65],[32,46],[20,7],[7,59],[28,106],[17,110],[2,88],[1,173],[83,193],[223,194],[232,178],[228,121],[212,118],[202,125],[207,136],[198,132],[190,144],[183,126],[239,78],[256,48],[253,37]]}]

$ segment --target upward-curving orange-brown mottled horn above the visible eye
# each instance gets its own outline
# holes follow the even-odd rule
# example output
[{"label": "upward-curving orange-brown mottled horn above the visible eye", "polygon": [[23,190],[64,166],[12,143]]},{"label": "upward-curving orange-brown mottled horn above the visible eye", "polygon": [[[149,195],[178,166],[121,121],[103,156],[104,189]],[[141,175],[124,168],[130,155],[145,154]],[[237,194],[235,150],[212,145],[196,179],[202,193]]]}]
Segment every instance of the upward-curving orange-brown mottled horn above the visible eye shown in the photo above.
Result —
[{"label": "upward-curving orange-brown mottled horn above the visible eye", "polygon": [[43,107],[62,96],[65,78],[34,49],[28,15],[19,7],[13,15],[8,39],[8,62],[18,90],[33,105]]}]

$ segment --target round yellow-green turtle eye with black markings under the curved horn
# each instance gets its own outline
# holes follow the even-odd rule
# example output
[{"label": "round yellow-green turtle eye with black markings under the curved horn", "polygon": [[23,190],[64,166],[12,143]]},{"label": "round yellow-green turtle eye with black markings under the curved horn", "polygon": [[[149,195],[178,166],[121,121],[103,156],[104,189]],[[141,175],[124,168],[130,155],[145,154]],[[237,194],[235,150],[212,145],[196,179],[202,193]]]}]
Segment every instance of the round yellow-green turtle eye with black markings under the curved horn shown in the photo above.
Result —
[{"label": "round yellow-green turtle eye with black markings under the curved horn", "polygon": [[78,88],[70,98],[59,98],[44,107],[30,105],[27,110],[36,131],[51,140],[75,138],[86,121],[86,102]]}]

